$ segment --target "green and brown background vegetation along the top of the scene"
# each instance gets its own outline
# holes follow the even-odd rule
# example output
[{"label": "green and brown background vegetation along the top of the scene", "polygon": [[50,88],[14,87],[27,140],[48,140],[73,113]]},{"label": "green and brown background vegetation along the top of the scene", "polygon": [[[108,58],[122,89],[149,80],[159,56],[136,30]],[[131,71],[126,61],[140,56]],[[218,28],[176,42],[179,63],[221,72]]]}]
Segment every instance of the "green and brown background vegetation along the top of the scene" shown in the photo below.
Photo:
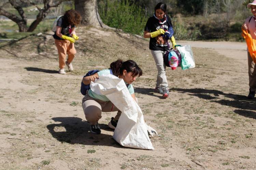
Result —
[{"label": "green and brown background vegetation along the top of the scene", "polygon": [[[40,0],[37,0],[40,3]],[[154,6],[159,0],[98,0],[102,21],[124,32],[143,35],[147,19],[153,15]],[[243,41],[240,36],[241,25],[251,15],[246,4],[250,0],[163,0],[167,4],[177,40],[230,40]],[[39,4],[40,6],[40,4]],[[53,18],[74,8],[73,1],[63,2],[51,8],[46,19],[32,33],[18,33],[12,21],[1,20],[0,38],[20,38],[51,30]],[[17,14],[11,5],[7,11]],[[37,8],[24,4],[28,18],[35,18]],[[30,24],[31,21],[28,21]]]}]

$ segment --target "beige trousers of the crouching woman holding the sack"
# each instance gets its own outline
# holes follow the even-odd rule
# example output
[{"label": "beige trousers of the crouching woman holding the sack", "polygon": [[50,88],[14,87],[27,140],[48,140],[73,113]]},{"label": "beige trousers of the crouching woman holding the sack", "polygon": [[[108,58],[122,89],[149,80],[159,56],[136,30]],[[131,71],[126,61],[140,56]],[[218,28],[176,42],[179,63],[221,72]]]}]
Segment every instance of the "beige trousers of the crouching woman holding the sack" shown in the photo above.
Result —
[{"label": "beige trousers of the crouching woman holding the sack", "polygon": [[[138,103],[138,99],[136,98],[136,102]],[[94,99],[90,97],[87,93],[82,100],[82,107],[85,114],[85,119],[91,124],[95,125],[96,122],[101,118],[101,112],[115,112],[117,111],[115,120],[118,120],[121,111],[111,102],[111,101],[102,101],[98,99]]]}]

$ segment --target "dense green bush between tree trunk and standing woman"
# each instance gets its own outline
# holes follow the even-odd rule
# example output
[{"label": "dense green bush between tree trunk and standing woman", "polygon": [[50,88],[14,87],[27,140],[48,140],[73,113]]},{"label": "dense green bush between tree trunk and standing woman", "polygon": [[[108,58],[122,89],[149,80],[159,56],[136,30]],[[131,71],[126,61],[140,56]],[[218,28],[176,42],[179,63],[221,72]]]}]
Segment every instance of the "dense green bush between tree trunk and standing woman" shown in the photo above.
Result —
[{"label": "dense green bush between tree trunk and standing woman", "polygon": [[147,18],[140,6],[129,0],[100,0],[99,14],[102,21],[124,32],[142,35]]}]

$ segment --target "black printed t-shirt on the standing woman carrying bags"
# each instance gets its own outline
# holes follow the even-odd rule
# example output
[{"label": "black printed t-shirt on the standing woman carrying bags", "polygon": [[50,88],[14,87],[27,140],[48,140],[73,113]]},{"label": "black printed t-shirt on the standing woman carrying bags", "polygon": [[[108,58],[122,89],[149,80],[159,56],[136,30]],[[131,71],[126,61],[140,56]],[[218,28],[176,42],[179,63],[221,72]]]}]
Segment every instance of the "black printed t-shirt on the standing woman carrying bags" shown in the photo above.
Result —
[{"label": "black printed t-shirt on the standing woman carrying bags", "polygon": [[[164,30],[168,30],[168,28],[171,26],[172,27],[172,22],[171,22],[171,18],[166,15],[166,20],[167,22],[165,22],[164,24],[160,24],[159,20],[156,19],[154,16],[150,17],[147,20],[146,26],[144,31],[148,31],[148,32],[154,32],[159,30],[160,28],[164,29]],[[164,19],[162,19],[161,21],[163,21]],[[157,38],[150,38],[150,44],[149,44],[149,48],[150,50],[161,50],[161,51],[167,51],[168,50],[168,46],[167,44],[157,44],[156,43]]]}]

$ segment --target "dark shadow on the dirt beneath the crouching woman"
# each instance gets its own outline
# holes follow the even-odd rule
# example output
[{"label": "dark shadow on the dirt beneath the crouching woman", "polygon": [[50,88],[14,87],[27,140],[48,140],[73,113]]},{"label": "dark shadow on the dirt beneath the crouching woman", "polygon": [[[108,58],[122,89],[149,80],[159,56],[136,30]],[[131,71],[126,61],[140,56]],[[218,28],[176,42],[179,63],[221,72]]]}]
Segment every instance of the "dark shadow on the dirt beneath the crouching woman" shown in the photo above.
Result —
[{"label": "dark shadow on the dirt beneath the crouching woman", "polygon": [[[47,129],[60,142],[70,144],[79,143],[82,145],[101,145],[112,146],[116,148],[125,148],[117,143],[111,135],[93,134],[90,132],[90,124],[77,117],[55,117],[52,118],[59,124],[49,124]],[[99,124],[100,128],[106,131],[112,131],[106,124]],[[63,128],[66,131],[63,131]],[[61,132],[59,132],[61,130]]]}]

